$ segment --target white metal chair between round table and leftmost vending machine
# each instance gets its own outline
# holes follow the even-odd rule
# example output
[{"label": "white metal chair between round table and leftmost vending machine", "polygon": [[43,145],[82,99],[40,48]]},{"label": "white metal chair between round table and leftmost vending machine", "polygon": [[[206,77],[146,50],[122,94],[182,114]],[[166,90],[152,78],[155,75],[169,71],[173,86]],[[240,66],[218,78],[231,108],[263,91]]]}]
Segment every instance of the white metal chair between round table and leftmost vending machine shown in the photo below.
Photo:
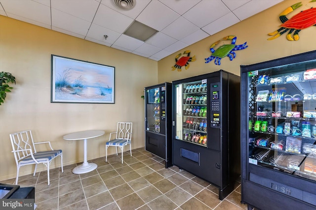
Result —
[{"label": "white metal chair between round table and leftmost vending machine", "polygon": [[[118,147],[122,151],[122,164],[123,164],[123,150],[124,146],[129,144],[130,156],[132,156],[131,139],[132,139],[132,122],[118,122],[118,128],[116,132],[110,133],[109,141],[105,145],[105,161],[108,161],[108,148],[110,146],[116,147],[118,155]],[[112,134],[116,134],[116,138],[111,140]],[[111,138],[112,137],[112,138]]]}]

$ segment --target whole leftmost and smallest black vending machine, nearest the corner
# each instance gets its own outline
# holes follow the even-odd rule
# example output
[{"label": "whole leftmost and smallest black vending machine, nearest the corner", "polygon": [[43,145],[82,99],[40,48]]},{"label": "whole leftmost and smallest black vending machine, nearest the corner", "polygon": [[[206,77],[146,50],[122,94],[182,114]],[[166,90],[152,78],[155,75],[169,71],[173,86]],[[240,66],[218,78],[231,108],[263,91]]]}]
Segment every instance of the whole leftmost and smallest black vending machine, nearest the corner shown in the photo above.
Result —
[{"label": "whole leftmost and smallest black vending machine, nearest the corner", "polygon": [[145,150],[171,161],[171,83],[145,88]]}]

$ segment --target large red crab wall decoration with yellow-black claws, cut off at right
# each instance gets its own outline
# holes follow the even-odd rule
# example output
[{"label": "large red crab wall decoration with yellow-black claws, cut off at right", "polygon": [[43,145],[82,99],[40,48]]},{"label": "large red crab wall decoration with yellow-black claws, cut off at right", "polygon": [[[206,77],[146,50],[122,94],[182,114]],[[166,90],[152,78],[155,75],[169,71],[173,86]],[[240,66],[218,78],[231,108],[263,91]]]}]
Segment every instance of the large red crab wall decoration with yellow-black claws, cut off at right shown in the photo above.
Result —
[{"label": "large red crab wall decoration with yellow-black claws, cut off at right", "polygon": [[[311,0],[310,2],[315,2],[316,0]],[[293,12],[295,9],[302,6],[302,2],[298,2],[296,4],[293,4],[292,6],[286,8],[281,14],[279,15],[279,19],[282,22],[280,25],[281,28],[278,30],[268,33],[268,35],[273,36],[271,38],[268,38],[268,40],[276,39],[283,33],[289,30],[288,34],[286,35],[287,40],[289,41],[297,41],[299,40],[298,33],[302,29],[309,28],[311,26],[316,26],[316,8],[310,8],[301,11],[300,13],[294,15],[292,18],[288,19],[286,17],[287,14],[290,12]],[[294,31],[294,33],[293,33]],[[293,33],[293,35],[292,35]]]}]

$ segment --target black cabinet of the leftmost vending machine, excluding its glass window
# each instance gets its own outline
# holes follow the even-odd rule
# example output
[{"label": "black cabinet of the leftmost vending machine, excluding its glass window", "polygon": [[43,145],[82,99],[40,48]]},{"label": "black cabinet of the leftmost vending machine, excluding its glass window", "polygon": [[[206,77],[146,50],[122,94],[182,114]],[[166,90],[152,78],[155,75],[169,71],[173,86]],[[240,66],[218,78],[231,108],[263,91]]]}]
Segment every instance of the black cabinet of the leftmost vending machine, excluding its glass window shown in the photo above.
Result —
[{"label": "black cabinet of the leftmost vending machine, excluding its glass window", "polygon": [[[162,88],[164,87],[164,90]],[[161,83],[145,88],[145,150],[161,157],[165,161],[165,168],[172,166],[172,142],[171,142],[171,83]],[[147,130],[147,90],[159,88],[159,118],[160,131]]]}]

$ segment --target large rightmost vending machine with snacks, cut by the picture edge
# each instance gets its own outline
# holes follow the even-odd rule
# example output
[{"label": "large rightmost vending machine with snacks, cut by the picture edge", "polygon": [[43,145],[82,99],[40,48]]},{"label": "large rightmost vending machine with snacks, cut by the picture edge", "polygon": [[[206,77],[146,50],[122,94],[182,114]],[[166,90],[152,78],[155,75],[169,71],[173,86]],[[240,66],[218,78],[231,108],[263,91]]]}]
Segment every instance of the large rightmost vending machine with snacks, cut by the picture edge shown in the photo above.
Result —
[{"label": "large rightmost vending machine with snacks, cut by the picture edge", "polygon": [[[290,209],[297,200],[316,208],[316,52],[241,66],[241,74],[242,192],[262,185]],[[268,205],[253,199],[243,201]]]}]

